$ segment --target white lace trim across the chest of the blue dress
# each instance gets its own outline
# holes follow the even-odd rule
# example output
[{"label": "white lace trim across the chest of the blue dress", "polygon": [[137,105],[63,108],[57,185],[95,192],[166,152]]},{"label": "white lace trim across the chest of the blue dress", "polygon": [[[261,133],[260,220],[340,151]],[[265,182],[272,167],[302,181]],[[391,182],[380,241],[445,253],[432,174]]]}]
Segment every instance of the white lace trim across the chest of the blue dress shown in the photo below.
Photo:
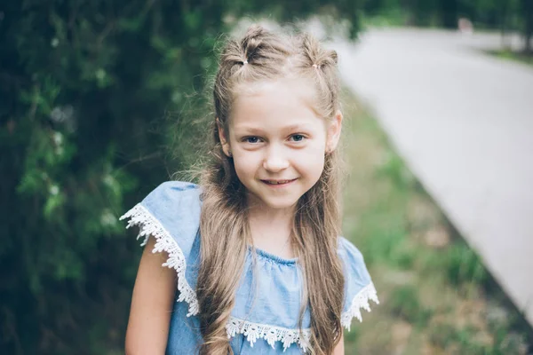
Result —
[{"label": "white lace trim across the chest of the blue dress", "polygon": [[302,351],[306,352],[307,344],[311,339],[311,329],[305,328],[301,332],[298,329],[286,327],[274,327],[267,324],[251,323],[248,320],[230,317],[226,324],[227,337],[231,338],[236,334],[246,336],[250,346],[258,339],[265,339],[274,349],[275,342],[283,344],[283,351],[286,351],[292,343],[298,343]]}]

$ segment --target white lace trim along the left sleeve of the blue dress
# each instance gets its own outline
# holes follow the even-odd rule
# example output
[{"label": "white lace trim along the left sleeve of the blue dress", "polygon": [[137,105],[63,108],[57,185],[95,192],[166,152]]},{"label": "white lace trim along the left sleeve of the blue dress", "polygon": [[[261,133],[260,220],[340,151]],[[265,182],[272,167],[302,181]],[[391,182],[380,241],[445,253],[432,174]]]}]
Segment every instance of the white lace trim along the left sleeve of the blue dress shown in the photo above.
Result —
[{"label": "white lace trim along the left sleeve of the blue dress", "polygon": [[190,287],[185,278],[185,270],[187,269],[187,263],[183,251],[179,248],[178,243],[172,238],[163,225],[142,205],[139,203],[126,212],[120,220],[128,218],[128,225],[126,228],[130,228],[133,225],[139,225],[140,237],[145,237],[145,240],[140,244],[145,246],[147,244],[150,235],[155,238],[155,246],[152,253],[160,253],[166,251],[169,258],[163,266],[176,270],[178,274],[178,290],[179,297],[178,302],[185,301],[188,304],[187,317],[194,316],[198,313],[198,299],[196,298],[195,290]]}]

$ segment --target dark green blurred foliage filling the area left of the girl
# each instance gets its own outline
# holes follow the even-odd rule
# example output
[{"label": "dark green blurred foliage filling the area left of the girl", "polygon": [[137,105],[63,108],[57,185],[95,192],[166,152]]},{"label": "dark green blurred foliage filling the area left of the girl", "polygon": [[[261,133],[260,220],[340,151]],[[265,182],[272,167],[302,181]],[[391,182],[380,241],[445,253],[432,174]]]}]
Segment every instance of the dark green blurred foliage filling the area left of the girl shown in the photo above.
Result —
[{"label": "dark green blurred foliage filling the area left of the girl", "polygon": [[118,217],[194,161],[219,35],[317,12],[357,32],[352,1],[3,4],[0,353],[122,352],[140,248]]}]

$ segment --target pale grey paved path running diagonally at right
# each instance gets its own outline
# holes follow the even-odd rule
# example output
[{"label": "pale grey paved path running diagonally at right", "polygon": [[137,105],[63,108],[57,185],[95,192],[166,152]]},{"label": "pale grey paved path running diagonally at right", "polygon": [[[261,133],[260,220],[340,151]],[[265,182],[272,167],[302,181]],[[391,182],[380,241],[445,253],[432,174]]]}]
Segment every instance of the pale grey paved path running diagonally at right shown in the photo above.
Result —
[{"label": "pale grey paved path running diagonally at right", "polygon": [[533,325],[533,67],[497,35],[376,29],[336,40],[343,80]]}]

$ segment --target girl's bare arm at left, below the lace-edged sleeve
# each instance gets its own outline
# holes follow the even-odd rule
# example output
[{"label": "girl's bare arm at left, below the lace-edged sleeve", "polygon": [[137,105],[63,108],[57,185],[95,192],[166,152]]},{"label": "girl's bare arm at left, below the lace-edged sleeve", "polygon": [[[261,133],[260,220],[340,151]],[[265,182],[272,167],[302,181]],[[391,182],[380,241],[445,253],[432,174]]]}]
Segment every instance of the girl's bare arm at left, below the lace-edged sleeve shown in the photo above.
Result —
[{"label": "girl's bare arm at left, below the lace-edged sleeve", "polygon": [[126,330],[127,355],[163,355],[167,345],[176,272],[161,266],[168,255],[152,253],[154,244],[150,237],[140,258]]}]

